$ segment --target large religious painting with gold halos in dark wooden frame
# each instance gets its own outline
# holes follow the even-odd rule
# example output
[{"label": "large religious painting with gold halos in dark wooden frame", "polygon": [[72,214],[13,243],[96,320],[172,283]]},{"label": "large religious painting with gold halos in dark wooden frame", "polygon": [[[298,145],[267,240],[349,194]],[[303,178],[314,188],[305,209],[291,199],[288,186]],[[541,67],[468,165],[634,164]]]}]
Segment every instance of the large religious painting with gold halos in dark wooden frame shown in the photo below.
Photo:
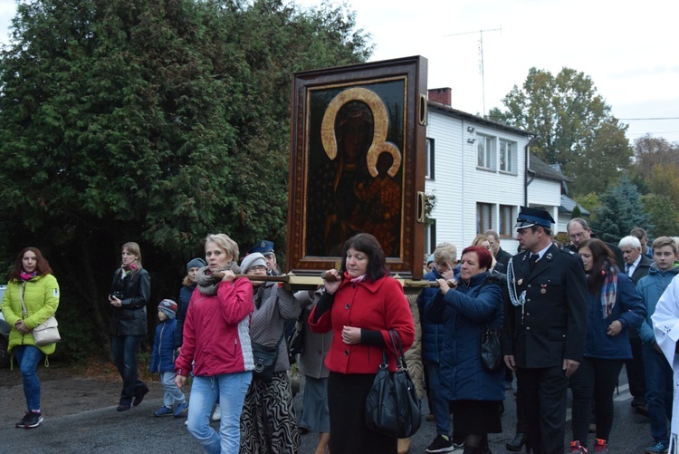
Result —
[{"label": "large religious painting with gold halos in dark wooden frame", "polygon": [[392,273],[421,278],[426,59],[294,74],[287,264],[318,275],[352,235],[378,237]]}]

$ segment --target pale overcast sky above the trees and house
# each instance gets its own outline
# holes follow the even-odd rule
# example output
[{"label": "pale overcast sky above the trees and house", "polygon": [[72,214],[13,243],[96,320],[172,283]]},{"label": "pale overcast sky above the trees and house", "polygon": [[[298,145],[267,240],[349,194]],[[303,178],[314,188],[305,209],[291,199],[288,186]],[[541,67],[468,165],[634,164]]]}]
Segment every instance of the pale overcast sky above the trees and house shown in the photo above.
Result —
[{"label": "pale overcast sky above the trees and house", "polygon": [[[296,0],[319,5],[320,0]],[[371,61],[423,55],[428,87],[451,87],[453,107],[482,113],[531,67],[592,78],[630,140],[679,141],[679,26],[669,0],[347,0],[371,35]],[[0,0],[0,40],[15,1]],[[502,29],[502,30],[500,30]],[[484,31],[483,34],[480,31]],[[483,35],[483,78],[480,38]],[[636,120],[640,119],[640,120]],[[661,120],[651,120],[661,119]]]}]

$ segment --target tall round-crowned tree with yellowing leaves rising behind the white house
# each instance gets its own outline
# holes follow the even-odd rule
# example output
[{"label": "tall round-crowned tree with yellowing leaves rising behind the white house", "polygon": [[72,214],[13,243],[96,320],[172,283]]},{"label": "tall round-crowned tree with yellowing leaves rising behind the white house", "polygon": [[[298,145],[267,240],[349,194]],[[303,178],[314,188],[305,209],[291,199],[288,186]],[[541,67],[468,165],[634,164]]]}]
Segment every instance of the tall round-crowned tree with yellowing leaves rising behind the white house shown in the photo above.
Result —
[{"label": "tall round-crowned tree with yellowing leaves rising behind the white house", "polygon": [[550,72],[531,68],[520,89],[516,85],[493,108],[490,118],[537,134],[536,155],[560,164],[574,179],[574,194],[602,192],[629,167],[632,149],[626,125],[610,113],[591,78],[563,68]]}]

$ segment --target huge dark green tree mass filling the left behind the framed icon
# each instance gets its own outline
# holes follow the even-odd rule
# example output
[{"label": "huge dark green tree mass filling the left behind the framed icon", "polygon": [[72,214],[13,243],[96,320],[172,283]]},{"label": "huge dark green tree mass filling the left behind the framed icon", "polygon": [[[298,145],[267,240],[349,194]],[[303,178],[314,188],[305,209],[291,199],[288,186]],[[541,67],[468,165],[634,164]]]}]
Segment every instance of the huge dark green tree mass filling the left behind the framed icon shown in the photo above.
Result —
[{"label": "huge dark green tree mass filling the left behind the framed icon", "polygon": [[21,1],[0,54],[5,250],[41,247],[62,324],[106,342],[126,241],[154,301],[177,294],[207,233],[283,242],[292,72],[370,51],[343,6]]}]

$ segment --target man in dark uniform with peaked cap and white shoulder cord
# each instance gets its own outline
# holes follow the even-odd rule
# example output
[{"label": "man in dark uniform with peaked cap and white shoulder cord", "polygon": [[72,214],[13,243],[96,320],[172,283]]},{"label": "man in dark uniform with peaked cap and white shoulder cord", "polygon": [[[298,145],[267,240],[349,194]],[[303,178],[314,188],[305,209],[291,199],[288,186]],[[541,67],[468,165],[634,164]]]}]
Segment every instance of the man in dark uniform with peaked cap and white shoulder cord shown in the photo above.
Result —
[{"label": "man in dark uniform with peaked cap and white shoulder cord", "polygon": [[550,214],[521,207],[510,260],[504,362],[516,372],[518,401],[534,454],[564,451],[569,376],[587,335],[587,278],[579,256],[551,242]]}]

